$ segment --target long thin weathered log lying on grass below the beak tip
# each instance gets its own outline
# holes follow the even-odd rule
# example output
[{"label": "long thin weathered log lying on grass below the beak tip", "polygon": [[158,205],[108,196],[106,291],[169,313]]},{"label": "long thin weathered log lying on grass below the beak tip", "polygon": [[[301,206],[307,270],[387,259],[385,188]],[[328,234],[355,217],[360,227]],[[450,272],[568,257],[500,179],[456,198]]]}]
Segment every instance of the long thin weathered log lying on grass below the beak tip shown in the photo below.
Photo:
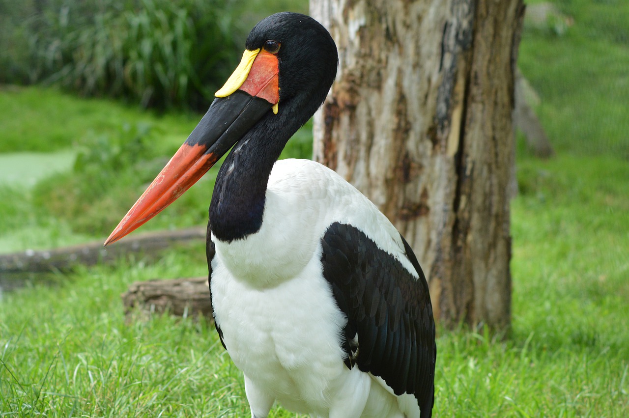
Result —
[{"label": "long thin weathered log lying on grass below the beak tip", "polygon": [[0,255],[1,273],[43,273],[72,270],[75,265],[109,263],[130,254],[157,256],[175,244],[206,239],[206,228],[136,234],[103,247],[102,241],[54,250],[26,250]]}]

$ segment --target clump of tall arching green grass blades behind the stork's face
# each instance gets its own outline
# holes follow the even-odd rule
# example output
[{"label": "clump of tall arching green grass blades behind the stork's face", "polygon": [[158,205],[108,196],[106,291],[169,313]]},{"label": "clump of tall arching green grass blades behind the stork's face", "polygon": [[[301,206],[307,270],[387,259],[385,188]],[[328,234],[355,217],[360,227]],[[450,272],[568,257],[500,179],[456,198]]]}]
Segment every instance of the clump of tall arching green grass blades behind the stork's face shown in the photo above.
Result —
[{"label": "clump of tall arching green grass blades behind the stork's face", "polygon": [[141,0],[122,13],[97,14],[64,37],[60,48],[72,51],[70,59],[51,80],[143,107],[205,106],[234,61],[223,8],[218,1]]}]

